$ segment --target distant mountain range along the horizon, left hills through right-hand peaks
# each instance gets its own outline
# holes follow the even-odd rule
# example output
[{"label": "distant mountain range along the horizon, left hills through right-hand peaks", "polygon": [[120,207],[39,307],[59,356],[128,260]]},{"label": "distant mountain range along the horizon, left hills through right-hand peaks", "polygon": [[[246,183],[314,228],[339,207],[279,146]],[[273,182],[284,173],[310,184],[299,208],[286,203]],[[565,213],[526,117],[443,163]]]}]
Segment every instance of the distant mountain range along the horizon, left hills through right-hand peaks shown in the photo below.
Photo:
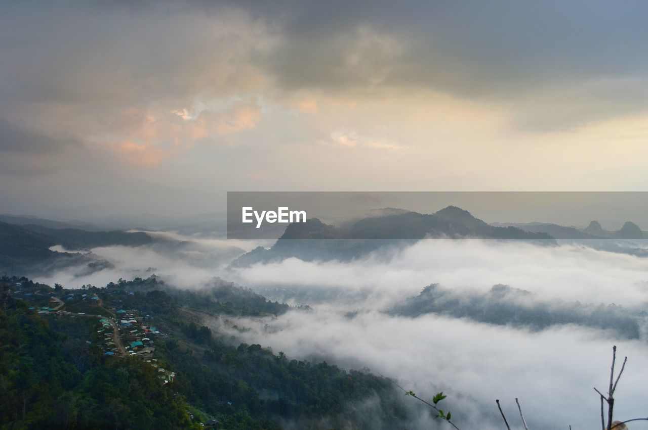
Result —
[{"label": "distant mountain range along the horizon, left hills through right-hand peaks", "polygon": [[[196,222],[198,220],[188,219],[183,227],[200,235],[200,232],[205,230]],[[209,225],[206,228],[211,230],[212,227]],[[610,231],[605,230],[597,221],[590,222],[587,228],[542,222],[488,224],[456,206],[448,206],[432,214],[387,208],[376,210],[369,217],[345,222],[340,226],[325,224],[317,218],[289,224],[283,235],[269,249],[258,247],[242,255],[232,249],[220,257],[231,255],[231,259],[236,258],[232,261],[232,266],[249,266],[290,257],[297,257],[303,261],[350,261],[376,250],[389,254],[390,251],[421,239],[516,239],[550,245],[557,244],[556,239],[588,239],[592,246],[599,249],[643,256],[647,253],[643,248],[629,248],[620,246],[619,243],[632,243],[634,239],[647,237],[646,234],[648,233],[630,221],[625,222],[621,229]],[[161,247],[163,252],[195,246],[191,241],[171,240],[143,231],[102,230],[95,224],[82,222],[0,215],[0,271],[18,274],[34,273],[35,270],[47,272],[62,265],[86,263],[94,263],[93,267],[98,270],[109,264],[103,261],[97,265],[97,256],[87,253],[56,252],[51,249],[54,245],[61,245],[67,250],[86,251],[100,246],[156,245]],[[200,263],[205,265],[209,264],[209,261]]]}]

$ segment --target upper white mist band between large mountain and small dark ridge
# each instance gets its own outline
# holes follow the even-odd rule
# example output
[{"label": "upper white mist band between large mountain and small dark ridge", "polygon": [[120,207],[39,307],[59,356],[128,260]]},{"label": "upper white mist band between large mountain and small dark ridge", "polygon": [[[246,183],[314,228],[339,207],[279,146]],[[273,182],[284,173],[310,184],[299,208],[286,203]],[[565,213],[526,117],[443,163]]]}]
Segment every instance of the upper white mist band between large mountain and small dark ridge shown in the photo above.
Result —
[{"label": "upper white mist band between large mountain and small dark ridge", "polygon": [[647,269],[648,259],[586,246],[470,239],[419,241],[388,260],[380,253],[351,263],[291,258],[236,269],[230,278],[294,292],[364,292],[378,308],[419,294],[431,283],[454,292],[486,292],[503,284],[535,293],[538,299],[636,306],[648,299]]}]

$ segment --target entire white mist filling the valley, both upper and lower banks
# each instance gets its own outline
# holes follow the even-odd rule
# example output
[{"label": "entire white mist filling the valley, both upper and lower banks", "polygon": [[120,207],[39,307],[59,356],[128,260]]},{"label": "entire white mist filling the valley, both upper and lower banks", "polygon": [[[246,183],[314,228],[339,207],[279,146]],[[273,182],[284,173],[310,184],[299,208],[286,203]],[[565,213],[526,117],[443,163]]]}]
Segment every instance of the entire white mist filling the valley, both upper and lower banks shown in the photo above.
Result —
[{"label": "entire white mist filling the valley, both upper and lower banks", "polygon": [[[619,354],[629,361],[619,382],[616,416],[628,419],[647,413],[645,334],[632,339],[605,325],[520,327],[485,323],[470,315],[403,316],[392,311],[431,284],[459,302],[476,304],[494,285],[506,285],[529,293],[516,299],[522,308],[542,303],[565,311],[575,302],[614,303],[621,314],[627,309],[632,318],[643,317],[645,325],[648,259],[582,244],[470,239],[426,240],[345,263],[291,258],[234,268],[229,263],[259,243],[243,241],[231,250],[229,241],[156,234],[168,235],[172,245],[94,248],[91,252],[111,266],[81,275],[75,269],[62,270],[38,280],[68,287],[102,286],[120,277],[155,273],[169,284],[191,288],[219,276],[272,300],[311,305],[310,312],[239,318],[238,329],[217,318],[207,323],[238,341],[260,343],[292,358],[369,367],[427,398],[444,391],[445,407],[463,429],[502,428],[496,398],[509,421],[515,421],[516,397],[532,427],[598,427],[599,398],[592,387],[607,386],[611,347],[618,345]],[[411,428],[426,428],[424,422],[413,422]]]}]

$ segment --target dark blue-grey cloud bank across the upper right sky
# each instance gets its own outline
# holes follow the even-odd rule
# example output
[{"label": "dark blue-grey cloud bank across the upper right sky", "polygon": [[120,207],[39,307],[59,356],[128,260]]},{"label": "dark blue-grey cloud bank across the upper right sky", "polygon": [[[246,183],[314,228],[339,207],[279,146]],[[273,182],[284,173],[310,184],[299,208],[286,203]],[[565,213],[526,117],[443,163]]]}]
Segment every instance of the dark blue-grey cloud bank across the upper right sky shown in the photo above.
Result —
[{"label": "dark blue-grey cloud bank across the upper right sky", "polygon": [[283,28],[265,66],[285,89],[431,89],[505,105],[530,131],[648,107],[643,2],[294,2],[281,13],[250,10]]}]

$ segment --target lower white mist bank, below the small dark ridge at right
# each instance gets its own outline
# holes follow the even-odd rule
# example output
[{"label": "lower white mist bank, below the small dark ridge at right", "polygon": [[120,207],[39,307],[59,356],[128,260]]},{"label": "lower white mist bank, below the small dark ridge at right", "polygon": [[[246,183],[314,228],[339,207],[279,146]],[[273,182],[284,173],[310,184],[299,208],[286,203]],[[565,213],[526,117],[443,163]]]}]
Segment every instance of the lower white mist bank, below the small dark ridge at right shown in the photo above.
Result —
[{"label": "lower white mist bank, below the small dark ridge at right", "polygon": [[467,319],[407,318],[371,310],[349,317],[336,306],[237,324],[249,330],[230,329],[231,334],[248,343],[268,345],[295,358],[369,367],[428,400],[443,391],[448,395],[444,408],[467,429],[502,428],[496,398],[514,421],[516,397],[535,428],[596,428],[599,399],[592,387],[607,386],[610,350],[616,344],[629,356],[619,382],[616,416],[645,415],[648,347],[643,341],[618,341],[590,328],[531,332]]}]

